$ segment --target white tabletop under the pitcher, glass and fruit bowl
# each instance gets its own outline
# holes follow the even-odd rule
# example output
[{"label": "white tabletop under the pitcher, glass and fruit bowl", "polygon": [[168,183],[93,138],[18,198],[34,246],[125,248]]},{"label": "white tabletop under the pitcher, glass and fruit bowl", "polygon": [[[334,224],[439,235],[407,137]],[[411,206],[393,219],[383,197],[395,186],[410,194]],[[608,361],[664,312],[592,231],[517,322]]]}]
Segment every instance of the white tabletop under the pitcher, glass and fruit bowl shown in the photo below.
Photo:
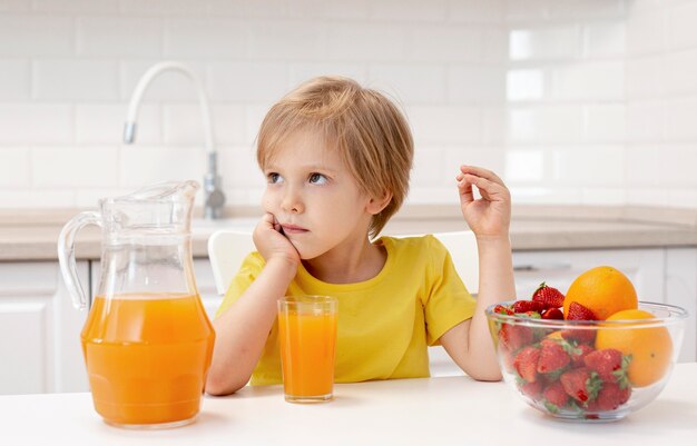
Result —
[{"label": "white tabletop under the pitcher, glass and fruit bowl", "polygon": [[679,364],[656,400],[609,424],[557,422],[503,383],[467,377],[344,384],[336,399],[285,403],[281,386],[206,397],[195,424],[106,425],[85,394],[0,396],[2,445],[697,445],[697,364]]}]

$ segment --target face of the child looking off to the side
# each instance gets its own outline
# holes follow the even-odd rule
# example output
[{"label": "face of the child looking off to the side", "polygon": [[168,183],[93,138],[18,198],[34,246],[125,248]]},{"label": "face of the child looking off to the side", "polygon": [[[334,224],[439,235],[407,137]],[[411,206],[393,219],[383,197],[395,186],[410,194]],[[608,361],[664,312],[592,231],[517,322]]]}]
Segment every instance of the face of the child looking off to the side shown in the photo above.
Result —
[{"label": "face of the child looking off to the side", "polygon": [[302,259],[365,242],[371,199],[318,132],[298,130],[286,137],[264,175],[264,210],[274,215]]}]

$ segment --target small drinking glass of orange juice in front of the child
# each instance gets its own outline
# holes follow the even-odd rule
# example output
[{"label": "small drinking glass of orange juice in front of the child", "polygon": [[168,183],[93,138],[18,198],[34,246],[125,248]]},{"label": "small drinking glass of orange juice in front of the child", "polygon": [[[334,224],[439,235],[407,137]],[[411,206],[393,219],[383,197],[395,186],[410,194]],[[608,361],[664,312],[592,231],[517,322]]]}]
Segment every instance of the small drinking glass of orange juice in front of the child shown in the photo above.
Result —
[{"label": "small drinking glass of orange juice in front of the child", "polygon": [[332,399],[338,301],[330,296],[286,296],[278,300],[278,341],[285,399]]}]

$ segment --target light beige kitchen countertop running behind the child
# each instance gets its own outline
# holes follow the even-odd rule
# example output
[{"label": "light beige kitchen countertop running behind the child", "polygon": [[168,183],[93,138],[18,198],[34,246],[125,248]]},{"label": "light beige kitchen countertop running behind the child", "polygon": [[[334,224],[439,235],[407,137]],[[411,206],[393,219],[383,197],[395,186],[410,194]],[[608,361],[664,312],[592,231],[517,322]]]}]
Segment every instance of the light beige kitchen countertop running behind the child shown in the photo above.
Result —
[{"label": "light beige kitchen countertop running behind the child", "polygon": [[[62,226],[79,209],[0,211],[0,261],[56,260]],[[208,236],[217,229],[252,230],[259,210],[244,209],[222,220],[192,222],[194,257],[207,257]],[[457,206],[412,206],[387,222],[384,234],[464,230]],[[514,206],[513,250],[609,249],[697,246],[697,209],[656,207]],[[98,259],[101,232],[87,227],[76,238],[76,255]]]}]

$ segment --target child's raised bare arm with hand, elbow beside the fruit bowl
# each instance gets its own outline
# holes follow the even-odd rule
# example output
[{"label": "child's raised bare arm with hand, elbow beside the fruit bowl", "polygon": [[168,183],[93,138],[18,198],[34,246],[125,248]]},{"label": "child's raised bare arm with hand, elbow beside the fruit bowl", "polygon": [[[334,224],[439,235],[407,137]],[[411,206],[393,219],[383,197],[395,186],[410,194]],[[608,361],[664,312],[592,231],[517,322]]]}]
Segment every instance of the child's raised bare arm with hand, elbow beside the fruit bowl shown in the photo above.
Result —
[{"label": "child's raised bare arm with hand, elbow beside the fruit bowl", "polygon": [[[477,236],[479,251],[479,295],[471,319],[464,320],[441,337],[453,360],[472,378],[501,379],[493,341],[484,309],[498,301],[516,298],[513,260],[509,226],[510,194],[493,172],[462,166],[458,175],[462,215]],[[481,198],[474,199],[472,186]]]}]

